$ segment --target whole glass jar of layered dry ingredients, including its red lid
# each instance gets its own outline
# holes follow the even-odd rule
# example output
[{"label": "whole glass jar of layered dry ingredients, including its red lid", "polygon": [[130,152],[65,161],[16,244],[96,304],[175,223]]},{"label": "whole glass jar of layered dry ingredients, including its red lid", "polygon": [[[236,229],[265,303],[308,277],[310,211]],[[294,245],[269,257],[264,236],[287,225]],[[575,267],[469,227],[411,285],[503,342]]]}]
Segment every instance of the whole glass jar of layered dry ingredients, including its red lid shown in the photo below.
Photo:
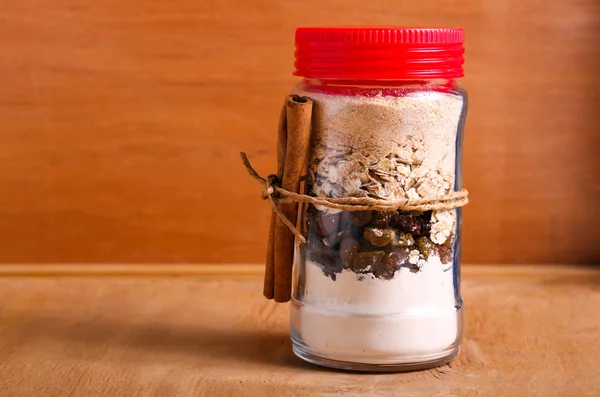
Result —
[{"label": "whole glass jar of layered dry ingredients, including its red lid", "polygon": [[[295,94],[313,100],[305,194],[381,200],[462,189],[460,29],[300,28]],[[304,205],[293,349],[329,367],[414,370],[457,356],[461,210]]]}]

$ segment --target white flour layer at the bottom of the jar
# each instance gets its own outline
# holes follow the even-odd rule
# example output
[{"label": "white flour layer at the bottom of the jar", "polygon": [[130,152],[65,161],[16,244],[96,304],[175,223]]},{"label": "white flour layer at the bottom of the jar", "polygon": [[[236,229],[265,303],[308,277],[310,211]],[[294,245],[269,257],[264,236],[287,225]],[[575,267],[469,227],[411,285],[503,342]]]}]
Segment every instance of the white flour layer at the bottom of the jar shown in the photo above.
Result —
[{"label": "white flour layer at the bottom of the jar", "polygon": [[301,305],[292,307],[292,325],[304,344],[321,356],[388,363],[445,352],[457,338],[452,269],[431,257],[421,270],[402,268],[391,280],[349,270],[327,277],[306,262]]}]

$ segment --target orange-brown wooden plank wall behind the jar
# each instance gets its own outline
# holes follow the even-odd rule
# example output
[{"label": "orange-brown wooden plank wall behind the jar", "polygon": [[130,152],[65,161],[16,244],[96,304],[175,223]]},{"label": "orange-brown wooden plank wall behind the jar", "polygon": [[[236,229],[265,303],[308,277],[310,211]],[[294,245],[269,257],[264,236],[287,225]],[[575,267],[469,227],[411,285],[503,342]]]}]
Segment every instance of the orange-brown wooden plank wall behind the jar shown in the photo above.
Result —
[{"label": "orange-brown wooden plank wall behind the jar", "polygon": [[464,260],[600,259],[597,0],[0,0],[0,262],[261,262],[302,25],[464,27]]}]

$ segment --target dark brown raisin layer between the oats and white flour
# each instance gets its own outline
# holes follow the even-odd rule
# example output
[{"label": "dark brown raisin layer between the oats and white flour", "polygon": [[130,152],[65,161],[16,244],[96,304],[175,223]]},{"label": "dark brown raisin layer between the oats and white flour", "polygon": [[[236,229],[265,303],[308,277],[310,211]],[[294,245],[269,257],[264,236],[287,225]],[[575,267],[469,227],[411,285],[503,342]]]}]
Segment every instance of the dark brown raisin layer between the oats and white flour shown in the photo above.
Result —
[{"label": "dark brown raisin layer between the oats and white flour", "polygon": [[[366,219],[370,219],[365,223]],[[452,262],[452,236],[446,245],[435,244],[431,233],[432,212],[307,211],[307,255],[335,279],[344,269],[390,279],[401,267],[419,271],[424,261],[439,256]]]}]

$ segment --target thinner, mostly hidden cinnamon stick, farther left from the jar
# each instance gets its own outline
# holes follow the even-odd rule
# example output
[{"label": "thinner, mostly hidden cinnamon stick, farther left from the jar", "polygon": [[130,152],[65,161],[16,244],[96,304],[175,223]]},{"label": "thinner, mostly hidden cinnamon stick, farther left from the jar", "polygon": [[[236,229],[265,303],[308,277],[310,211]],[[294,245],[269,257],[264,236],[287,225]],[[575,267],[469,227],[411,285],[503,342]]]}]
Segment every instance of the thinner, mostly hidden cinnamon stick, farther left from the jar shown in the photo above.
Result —
[{"label": "thinner, mostly hidden cinnamon stick, farther left from the jar", "polygon": [[[277,127],[277,179],[283,179],[285,152],[287,150],[287,98],[281,107],[279,125]],[[269,227],[269,242],[267,245],[267,261],[265,265],[265,280],[263,295],[273,299],[275,293],[275,220],[277,215],[271,213],[271,226]]]}]

